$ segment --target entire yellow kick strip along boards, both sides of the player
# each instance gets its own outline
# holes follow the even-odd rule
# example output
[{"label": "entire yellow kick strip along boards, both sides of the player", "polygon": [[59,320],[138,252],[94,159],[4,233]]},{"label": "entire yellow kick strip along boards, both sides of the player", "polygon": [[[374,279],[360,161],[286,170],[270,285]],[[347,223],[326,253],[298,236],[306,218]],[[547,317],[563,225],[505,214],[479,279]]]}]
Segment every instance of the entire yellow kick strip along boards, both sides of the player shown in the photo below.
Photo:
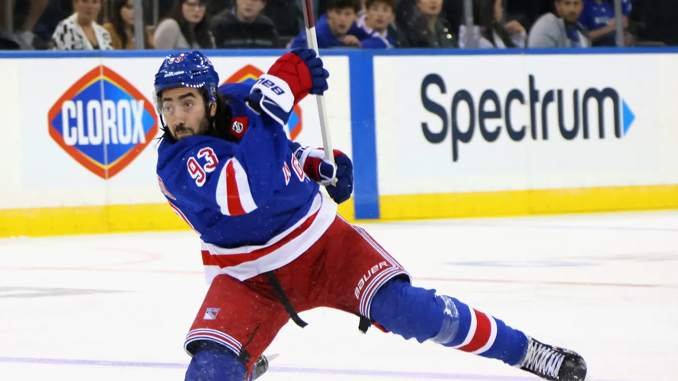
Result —
[{"label": "entire yellow kick strip along boards, both sides of the player", "polygon": [[[678,208],[678,185],[416,194],[379,200],[378,221],[652,210]],[[339,214],[355,222],[353,199],[339,206]],[[0,210],[3,238],[171,230],[190,228],[166,203]]]}]

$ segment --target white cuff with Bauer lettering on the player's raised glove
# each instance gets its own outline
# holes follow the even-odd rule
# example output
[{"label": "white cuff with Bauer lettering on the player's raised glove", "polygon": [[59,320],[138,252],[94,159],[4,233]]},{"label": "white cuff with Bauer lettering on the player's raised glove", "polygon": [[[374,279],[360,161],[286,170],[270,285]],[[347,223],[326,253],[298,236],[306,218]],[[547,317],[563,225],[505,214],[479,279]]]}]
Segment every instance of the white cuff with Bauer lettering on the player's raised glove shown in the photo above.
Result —
[{"label": "white cuff with Bauer lettering on the player's raised glove", "polygon": [[252,92],[245,96],[250,107],[256,105],[258,112],[264,112],[273,120],[286,125],[294,107],[294,94],[285,81],[270,74],[260,76],[252,86]]}]

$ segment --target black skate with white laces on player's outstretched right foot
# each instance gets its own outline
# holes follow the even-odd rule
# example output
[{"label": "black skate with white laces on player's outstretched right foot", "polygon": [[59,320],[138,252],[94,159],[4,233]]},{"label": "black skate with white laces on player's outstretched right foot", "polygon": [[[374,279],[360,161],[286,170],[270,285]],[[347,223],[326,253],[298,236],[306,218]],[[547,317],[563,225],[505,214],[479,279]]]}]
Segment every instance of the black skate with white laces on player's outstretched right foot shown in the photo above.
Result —
[{"label": "black skate with white laces on player's outstretched right foot", "polygon": [[573,351],[527,337],[527,354],[516,367],[549,381],[591,381],[586,361]]}]

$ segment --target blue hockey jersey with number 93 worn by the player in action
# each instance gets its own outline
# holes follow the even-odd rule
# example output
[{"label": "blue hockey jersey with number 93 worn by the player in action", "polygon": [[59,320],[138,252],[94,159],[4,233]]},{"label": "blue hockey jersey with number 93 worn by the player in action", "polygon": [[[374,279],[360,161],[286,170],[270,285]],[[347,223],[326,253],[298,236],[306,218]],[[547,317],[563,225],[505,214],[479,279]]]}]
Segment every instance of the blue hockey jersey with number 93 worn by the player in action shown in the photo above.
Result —
[{"label": "blue hockey jersey with number 93 worn by the player in action", "polygon": [[292,262],[336,217],[290,150],[283,126],[244,104],[251,85],[220,87],[231,98],[231,142],[196,135],[163,139],[157,175],[170,206],[202,240],[205,277],[244,280]]}]

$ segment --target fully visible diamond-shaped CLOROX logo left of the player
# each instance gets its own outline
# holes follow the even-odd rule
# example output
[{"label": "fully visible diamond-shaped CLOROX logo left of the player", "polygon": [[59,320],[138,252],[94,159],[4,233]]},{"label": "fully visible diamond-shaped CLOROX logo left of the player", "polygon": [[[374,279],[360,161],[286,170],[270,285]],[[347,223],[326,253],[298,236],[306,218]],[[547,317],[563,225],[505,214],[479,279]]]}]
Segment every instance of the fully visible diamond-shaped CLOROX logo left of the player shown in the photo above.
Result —
[{"label": "fully visible diamond-shaped CLOROX logo left of the player", "polygon": [[125,169],[158,133],[153,104],[106,66],[66,90],[48,123],[52,139],[102,179]]}]

